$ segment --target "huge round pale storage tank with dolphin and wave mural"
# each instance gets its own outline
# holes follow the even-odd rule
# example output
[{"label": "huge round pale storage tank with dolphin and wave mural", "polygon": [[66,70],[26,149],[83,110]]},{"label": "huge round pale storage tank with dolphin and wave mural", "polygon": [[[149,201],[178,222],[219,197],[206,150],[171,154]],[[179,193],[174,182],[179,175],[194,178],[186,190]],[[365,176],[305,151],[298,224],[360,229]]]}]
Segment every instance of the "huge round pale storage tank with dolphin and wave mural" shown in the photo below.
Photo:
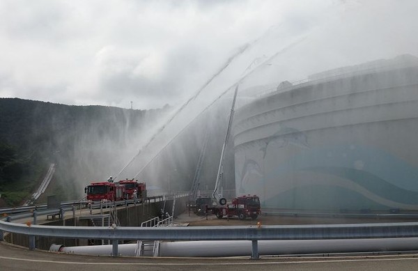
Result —
[{"label": "huge round pale storage tank with dolphin and wave mural", "polygon": [[235,112],[236,194],[263,208],[418,209],[418,59],[312,75]]}]

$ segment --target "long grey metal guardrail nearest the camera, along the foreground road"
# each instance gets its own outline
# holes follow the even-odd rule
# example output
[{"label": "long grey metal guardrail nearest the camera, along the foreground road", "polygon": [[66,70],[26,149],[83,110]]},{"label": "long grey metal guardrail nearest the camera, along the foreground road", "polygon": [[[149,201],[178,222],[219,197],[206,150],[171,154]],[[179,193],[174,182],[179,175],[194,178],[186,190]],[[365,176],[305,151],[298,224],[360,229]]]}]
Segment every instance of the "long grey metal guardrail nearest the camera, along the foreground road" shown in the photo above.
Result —
[{"label": "long grey metal guardrail nearest the camera, along the foreground road", "polygon": [[417,238],[418,222],[386,224],[326,224],[211,227],[74,227],[15,224],[0,220],[3,231],[33,236],[112,240],[118,256],[119,240],[251,240],[251,258],[258,258],[258,240],[323,240],[355,238]]}]

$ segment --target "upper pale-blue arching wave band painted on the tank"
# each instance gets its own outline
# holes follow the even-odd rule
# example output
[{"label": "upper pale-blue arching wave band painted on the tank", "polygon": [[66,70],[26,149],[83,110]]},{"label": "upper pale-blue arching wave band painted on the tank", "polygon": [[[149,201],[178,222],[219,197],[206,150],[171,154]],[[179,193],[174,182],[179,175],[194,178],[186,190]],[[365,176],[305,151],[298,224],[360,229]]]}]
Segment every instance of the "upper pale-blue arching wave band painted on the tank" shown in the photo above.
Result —
[{"label": "upper pale-blue arching wave band painted on the tank", "polygon": [[372,192],[379,192],[379,185],[385,184],[392,185],[392,189],[418,192],[417,167],[384,150],[354,144],[300,150],[298,155],[288,157],[266,172],[265,178],[274,180],[277,176],[302,170],[322,171],[353,181],[361,177]]}]

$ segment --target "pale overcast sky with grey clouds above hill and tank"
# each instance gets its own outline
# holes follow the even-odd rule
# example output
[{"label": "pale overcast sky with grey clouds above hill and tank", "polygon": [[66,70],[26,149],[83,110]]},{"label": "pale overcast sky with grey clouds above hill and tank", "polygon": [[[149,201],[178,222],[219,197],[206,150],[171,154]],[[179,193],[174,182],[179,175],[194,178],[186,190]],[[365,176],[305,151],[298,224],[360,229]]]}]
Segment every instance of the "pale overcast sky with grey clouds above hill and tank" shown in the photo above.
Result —
[{"label": "pale overcast sky with grey clouds above hill and tank", "polygon": [[[367,8],[362,8],[364,2]],[[347,33],[338,39],[346,38],[344,44],[353,42],[354,49],[362,44],[364,36],[359,37],[357,30],[351,33],[352,25],[353,29],[365,29],[363,22],[366,26],[388,22],[377,31],[367,29],[371,37],[379,33],[380,40],[374,40],[385,48],[363,50],[357,54],[361,58],[414,53],[411,48],[418,47],[416,2],[1,0],[0,97],[125,108],[133,101],[134,109],[181,104],[231,54],[263,37],[269,29],[280,29],[289,43],[316,31],[316,36],[307,39],[316,44],[317,50],[322,46],[319,40],[324,39],[318,29],[330,29],[330,24],[338,20],[346,22],[343,31]],[[354,36],[359,39],[353,40]],[[393,46],[387,40],[392,40]],[[336,43],[334,47],[342,46]],[[259,48],[258,59],[270,56]],[[304,59],[302,54],[307,49],[300,49],[292,61]],[[342,65],[350,64],[348,59],[361,61],[348,57],[347,52],[344,57],[334,54],[327,60],[324,56],[320,62],[339,59],[335,65]],[[242,67],[251,68],[256,60]],[[309,63],[304,65],[309,72],[319,69],[313,65],[318,62]],[[300,79],[304,76],[300,72]]]}]

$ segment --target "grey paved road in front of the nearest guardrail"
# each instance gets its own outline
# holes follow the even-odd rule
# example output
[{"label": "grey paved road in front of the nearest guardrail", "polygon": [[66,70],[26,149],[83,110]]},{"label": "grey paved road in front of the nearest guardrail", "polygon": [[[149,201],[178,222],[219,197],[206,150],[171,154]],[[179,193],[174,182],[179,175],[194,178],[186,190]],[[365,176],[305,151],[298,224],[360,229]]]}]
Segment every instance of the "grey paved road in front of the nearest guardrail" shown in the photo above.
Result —
[{"label": "grey paved road in front of the nearest guardrail", "polygon": [[0,270],[417,270],[418,254],[320,258],[131,258],[29,251],[0,243]]}]

